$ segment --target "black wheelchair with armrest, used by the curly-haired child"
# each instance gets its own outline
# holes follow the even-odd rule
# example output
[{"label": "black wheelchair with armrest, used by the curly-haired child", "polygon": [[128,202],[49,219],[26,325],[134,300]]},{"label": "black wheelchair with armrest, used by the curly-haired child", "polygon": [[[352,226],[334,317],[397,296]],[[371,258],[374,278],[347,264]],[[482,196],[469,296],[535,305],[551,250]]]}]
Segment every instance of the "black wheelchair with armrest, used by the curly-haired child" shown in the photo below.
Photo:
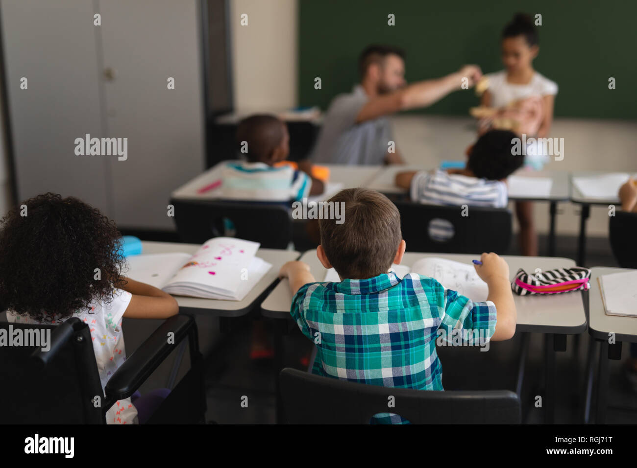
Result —
[{"label": "black wheelchair with armrest, used by the curly-haired child", "polygon": [[[23,336],[50,329],[50,349],[40,346],[0,346],[0,399],[5,405],[0,423],[105,424],[106,411],[131,397],[183,339],[189,340],[190,370],[171,390],[147,423],[203,423],[206,395],[203,357],[192,317],[176,315],[162,323],[113,373],[105,392],[97,371],[89,327],[79,318],[61,325],[0,322],[0,332]],[[168,343],[169,332],[175,343]],[[45,333],[47,333],[45,331]],[[27,344],[27,343],[24,343]],[[94,399],[99,397],[96,408]]]}]

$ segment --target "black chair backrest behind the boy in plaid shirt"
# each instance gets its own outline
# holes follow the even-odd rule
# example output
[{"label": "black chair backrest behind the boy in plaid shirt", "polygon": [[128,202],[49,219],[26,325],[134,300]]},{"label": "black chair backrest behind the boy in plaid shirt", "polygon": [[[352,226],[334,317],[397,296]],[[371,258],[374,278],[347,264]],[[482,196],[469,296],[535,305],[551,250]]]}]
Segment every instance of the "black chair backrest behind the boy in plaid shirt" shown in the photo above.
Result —
[{"label": "black chair backrest behind the boy in plaid shirt", "polygon": [[[395,413],[414,424],[519,424],[520,398],[510,390],[427,391],[364,385],[299,371],[279,374],[279,404],[290,424],[368,424]],[[394,407],[389,408],[389,397]]]}]

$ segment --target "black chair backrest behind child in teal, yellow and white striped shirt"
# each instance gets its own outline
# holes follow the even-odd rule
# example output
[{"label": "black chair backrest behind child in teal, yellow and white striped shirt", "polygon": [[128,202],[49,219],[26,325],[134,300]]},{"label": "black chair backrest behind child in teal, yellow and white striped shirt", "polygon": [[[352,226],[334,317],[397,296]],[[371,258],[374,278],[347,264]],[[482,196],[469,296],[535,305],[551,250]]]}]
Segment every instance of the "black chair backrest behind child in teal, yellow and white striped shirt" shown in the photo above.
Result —
[{"label": "black chair backrest behind child in teal, yellow and white striped shirt", "polygon": [[262,248],[285,249],[292,239],[292,220],[283,205],[171,201],[177,232],[183,242],[201,244],[228,236],[261,243]]}]

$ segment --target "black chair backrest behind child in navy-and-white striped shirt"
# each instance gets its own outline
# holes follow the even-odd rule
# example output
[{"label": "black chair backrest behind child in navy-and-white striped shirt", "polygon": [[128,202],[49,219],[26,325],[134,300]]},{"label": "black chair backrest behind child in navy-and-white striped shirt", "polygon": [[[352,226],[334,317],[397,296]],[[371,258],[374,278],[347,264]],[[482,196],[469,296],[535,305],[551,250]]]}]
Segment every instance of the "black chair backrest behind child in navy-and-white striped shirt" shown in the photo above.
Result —
[{"label": "black chair backrest behind child in navy-and-white striped shirt", "polygon": [[[438,206],[410,201],[394,201],[401,217],[403,239],[409,252],[481,253],[509,250],[513,216],[506,208],[469,206],[462,216],[461,206]],[[429,223],[445,220],[454,227],[454,236],[438,241],[429,236]]]}]

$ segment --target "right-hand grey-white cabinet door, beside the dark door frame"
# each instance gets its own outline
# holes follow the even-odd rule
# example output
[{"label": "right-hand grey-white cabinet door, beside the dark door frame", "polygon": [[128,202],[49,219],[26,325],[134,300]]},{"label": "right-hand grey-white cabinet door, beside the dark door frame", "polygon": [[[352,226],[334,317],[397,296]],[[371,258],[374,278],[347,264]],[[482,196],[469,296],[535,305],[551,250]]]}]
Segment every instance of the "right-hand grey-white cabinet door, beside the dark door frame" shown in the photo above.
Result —
[{"label": "right-hand grey-white cabinet door, beside the dark door frame", "polygon": [[174,229],[170,194],[204,169],[199,2],[108,0],[99,13],[107,132],[128,139],[127,159],[108,159],[115,220]]}]

